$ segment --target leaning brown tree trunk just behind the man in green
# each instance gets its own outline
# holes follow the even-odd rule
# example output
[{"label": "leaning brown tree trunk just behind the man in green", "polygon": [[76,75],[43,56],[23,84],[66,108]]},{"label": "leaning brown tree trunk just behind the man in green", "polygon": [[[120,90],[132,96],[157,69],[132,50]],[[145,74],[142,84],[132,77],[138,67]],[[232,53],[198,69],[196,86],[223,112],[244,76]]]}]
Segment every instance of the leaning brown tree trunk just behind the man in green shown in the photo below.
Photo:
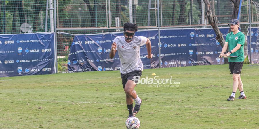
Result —
[{"label": "leaning brown tree trunk just behind the man in green", "polygon": [[[212,11],[211,11],[212,5],[210,5],[210,1],[209,0],[203,0],[203,1],[204,1],[204,4],[205,4],[206,16],[207,16],[208,22],[212,26],[214,32],[216,33],[216,39],[220,43],[220,46],[223,47],[226,41],[225,41],[225,39],[223,37],[223,34],[220,32],[220,30],[218,28],[218,25],[216,23],[215,17],[213,17],[213,15],[212,15]],[[224,63],[225,64],[228,62],[228,60],[226,60],[226,59],[227,58],[224,59]]]}]

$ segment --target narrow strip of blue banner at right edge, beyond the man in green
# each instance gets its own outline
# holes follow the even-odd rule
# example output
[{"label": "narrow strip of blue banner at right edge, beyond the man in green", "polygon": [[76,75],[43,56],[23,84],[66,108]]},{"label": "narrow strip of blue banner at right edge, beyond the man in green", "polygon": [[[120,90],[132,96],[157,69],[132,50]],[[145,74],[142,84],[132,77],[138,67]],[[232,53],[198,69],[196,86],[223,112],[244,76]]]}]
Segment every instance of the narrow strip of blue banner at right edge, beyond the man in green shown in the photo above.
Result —
[{"label": "narrow strip of blue banner at right edge, beyond the man in green", "polygon": [[[251,46],[251,55],[250,55],[250,36],[247,36],[247,55],[248,59],[250,61],[251,56],[251,64],[259,64],[259,28],[252,28],[251,27],[251,40],[252,40],[252,46]],[[248,28],[248,32],[249,28]]]}]

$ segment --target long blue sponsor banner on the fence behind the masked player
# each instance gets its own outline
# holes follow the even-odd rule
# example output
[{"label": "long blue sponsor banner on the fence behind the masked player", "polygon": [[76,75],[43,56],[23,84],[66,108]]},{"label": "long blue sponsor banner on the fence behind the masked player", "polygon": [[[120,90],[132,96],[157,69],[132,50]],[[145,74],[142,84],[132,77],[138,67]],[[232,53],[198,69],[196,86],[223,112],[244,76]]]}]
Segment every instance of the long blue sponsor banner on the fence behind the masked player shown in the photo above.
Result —
[{"label": "long blue sponsor banner on the fence behind the masked player", "polygon": [[[226,38],[227,28],[220,28]],[[118,54],[109,58],[111,44],[116,36],[123,36],[123,32],[76,35],[68,57],[68,70],[80,71],[108,71],[119,70]],[[161,67],[182,67],[192,65],[223,64],[223,58],[218,58],[222,47],[216,40],[212,28],[207,29],[161,29],[160,43],[158,30],[140,30],[135,36],[145,36],[150,39],[153,57],[146,58],[146,46],[140,47],[140,58],[144,69]],[[159,45],[161,54],[159,55]],[[161,62],[159,62],[161,56]]]}]

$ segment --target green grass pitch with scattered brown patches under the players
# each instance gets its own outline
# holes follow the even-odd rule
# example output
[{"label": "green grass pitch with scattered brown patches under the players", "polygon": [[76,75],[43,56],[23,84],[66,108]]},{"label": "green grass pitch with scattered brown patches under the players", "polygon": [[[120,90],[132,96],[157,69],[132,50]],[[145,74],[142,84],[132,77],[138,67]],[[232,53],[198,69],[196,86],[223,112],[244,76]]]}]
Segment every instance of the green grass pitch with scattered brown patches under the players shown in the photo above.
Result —
[{"label": "green grass pitch with scattered brown patches under the players", "polygon": [[[245,64],[247,99],[227,101],[228,65],[144,69],[180,84],[138,84],[140,128],[259,128],[258,72]],[[0,128],[125,128],[128,115],[119,71],[2,77],[0,103]]]}]

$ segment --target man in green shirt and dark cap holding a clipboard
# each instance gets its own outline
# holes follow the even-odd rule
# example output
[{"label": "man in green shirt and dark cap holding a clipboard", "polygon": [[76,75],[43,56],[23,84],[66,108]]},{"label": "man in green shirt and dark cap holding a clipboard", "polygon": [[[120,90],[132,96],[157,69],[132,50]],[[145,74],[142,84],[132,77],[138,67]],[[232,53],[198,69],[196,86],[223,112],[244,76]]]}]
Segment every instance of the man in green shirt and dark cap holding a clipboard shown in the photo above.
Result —
[{"label": "man in green shirt and dark cap holding a clipboard", "polygon": [[[230,73],[233,74],[233,90],[231,96],[229,96],[227,100],[233,101],[235,99],[237,88],[240,91],[240,96],[238,97],[238,99],[246,99],[243,90],[243,83],[240,77],[240,73],[244,63],[245,35],[238,30],[240,26],[238,19],[232,19],[228,25],[230,25],[232,32],[227,34],[225,45],[223,46],[219,56],[238,56],[228,58],[228,66],[230,69]],[[230,51],[224,54],[228,47]]]}]

